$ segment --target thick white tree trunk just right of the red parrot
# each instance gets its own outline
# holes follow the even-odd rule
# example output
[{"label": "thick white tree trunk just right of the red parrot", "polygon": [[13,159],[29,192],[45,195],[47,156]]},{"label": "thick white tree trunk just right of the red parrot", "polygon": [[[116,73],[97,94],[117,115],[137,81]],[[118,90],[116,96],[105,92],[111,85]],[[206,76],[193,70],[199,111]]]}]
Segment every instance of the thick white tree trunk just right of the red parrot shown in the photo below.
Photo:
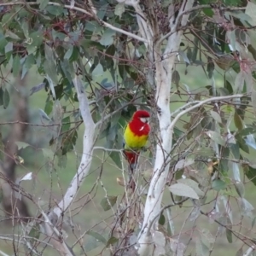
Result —
[{"label": "thick white tree trunk just right of the red parrot", "polygon": [[149,185],[148,196],[144,208],[143,228],[138,236],[139,255],[148,255],[150,244],[152,241],[154,242],[154,237],[152,236],[154,233],[153,231],[158,228],[157,220],[160,214],[166,177],[169,172],[170,164],[167,163],[169,163],[169,154],[172,148],[172,132],[170,132],[169,129],[171,125],[170,93],[172,67],[183,35],[182,30],[177,32],[177,27],[185,26],[187,24],[188,15],[183,15],[183,13],[192,8],[192,2],[192,0],[183,1],[176,20],[174,20],[172,12],[174,7],[170,6],[169,16],[171,18],[169,22],[171,32],[169,38],[167,38],[166,49],[162,55],[159,45],[159,47],[156,48],[158,50],[154,52],[154,60],[156,63],[155,80],[157,86],[155,102],[157,103],[160,124],[160,143],[156,148],[154,173]]}]

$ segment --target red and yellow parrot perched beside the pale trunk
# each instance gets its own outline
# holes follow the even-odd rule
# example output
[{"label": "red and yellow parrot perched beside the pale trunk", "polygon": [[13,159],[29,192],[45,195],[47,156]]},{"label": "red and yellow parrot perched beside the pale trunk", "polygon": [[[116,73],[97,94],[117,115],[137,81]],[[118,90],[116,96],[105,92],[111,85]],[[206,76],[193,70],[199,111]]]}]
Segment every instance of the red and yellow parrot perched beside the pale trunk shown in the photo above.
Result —
[{"label": "red and yellow parrot perched beside the pale trunk", "polygon": [[139,154],[148,142],[148,134],[150,132],[149,118],[150,113],[148,111],[137,110],[125,127],[123,153],[129,164],[129,183],[132,183],[131,186],[135,185],[131,176],[137,166]]}]

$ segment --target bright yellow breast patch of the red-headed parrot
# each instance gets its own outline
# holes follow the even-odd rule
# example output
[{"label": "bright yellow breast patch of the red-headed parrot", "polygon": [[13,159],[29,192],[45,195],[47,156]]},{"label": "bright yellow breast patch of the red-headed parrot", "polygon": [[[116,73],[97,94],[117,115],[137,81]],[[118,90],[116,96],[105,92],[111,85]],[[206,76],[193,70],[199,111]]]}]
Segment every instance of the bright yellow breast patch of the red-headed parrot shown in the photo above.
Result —
[{"label": "bright yellow breast patch of the red-headed parrot", "polygon": [[145,147],[148,141],[148,135],[137,136],[131,131],[129,125],[127,125],[125,128],[124,139],[125,148],[137,149]]}]

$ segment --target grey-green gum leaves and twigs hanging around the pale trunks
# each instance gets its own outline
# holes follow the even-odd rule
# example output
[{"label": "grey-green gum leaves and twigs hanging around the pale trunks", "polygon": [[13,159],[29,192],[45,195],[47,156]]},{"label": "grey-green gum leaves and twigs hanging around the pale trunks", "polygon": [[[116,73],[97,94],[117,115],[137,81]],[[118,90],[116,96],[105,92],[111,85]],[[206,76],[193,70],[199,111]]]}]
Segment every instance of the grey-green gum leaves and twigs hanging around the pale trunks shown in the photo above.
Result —
[{"label": "grey-green gum leaves and twigs hanging around the pale trunks", "polygon": [[[174,2],[173,15],[177,14],[182,1]],[[156,41],[163,39],[161,49],[164,50],[168,38],[165,35],[170,32],[167,12],[172,3],[167,0],[141,3],[148,20],[152,23],[157,20],[154,24],[159,27]],[[143,40],[131,36],[139,34],[140,29],[135,10],[129,4],[98,0],[92,3],[97,10],[95,15],[90,1],[87,4],[89,7],[78,1],[77,8],[72,8],[64,6],[63,1],[0,3],[0,62],[4,70],[1,71],[0,108],[9,108],[10,77],[23,79],[27,73],[36,72],[41,82],[34,84],[31,95],[37,96],[45,90],[45,107],[40,114],[47,122],[46,129],[58,127],[51,132],[48,142],[51,149],[43,149],[44,160],[55,165],[57,158],[56,165],[64,167],[67,155],[76,152],[79,128],[83,124],[73,81],[77,75],[90,101],[92,118],[98,125],[96,142],[102,143],[104,139],[102,148],[107,153],[103,154],[101,168],[107,154],[114,165],[121,170],[124,167],[120,154],[122,131],[136,108],[150,109],[153,116],[150,157],[147,154],[148,163],[153,165],[155,146],[162,143],[156,121],[156,82],[149,80],[156,63],[148,61],[150,53]],[[188,255],[190,249],[196,255],[206,255],[215,249],[214,237],[221,236],[221,229],[225,230],[229,243],[238,239],[241,247],[247,249],[253,245],[253,231],[242,232],[241,227],[246,228],[255,221],[253,202],[247,200],[245,193],[248,185],[253,184],[253,189],[256,185],[256,162],[252,157],[256,149],[253,119],[256,109],[255,11],[253,2],[201,0],[189,11],[187,26],[177,28],[184,32],[176,65],[169,71],[172,73],[170,105],[175,108],[172,116],[206,98],[236,93],[243,96],[207,102],[189,111],[175,125],[170,176],[166,181],[168,202],[163,202],[160,216],[157,216],[160,231],[155,235],[158,239],[156,252],[183,255],[189,248]],[[201,84],[193,84],[196,78],[191,70],[203,70]],[[190,84],[183,84],[184,76]],[[186,103],[177,108],[174,102]],[[87,124],[84,125],[86,130]],[[19,150],[30,147],[28,143],[16,144]],[[138,177],[138,183],[147,191],[151,173],[148,175],[146,167],[141,168],[143,181]],[[102,172],[96,186],[101,175]],[[119,199],[118,195],[109,196],[107,189],[104,192],[102,201],[97,203],[105,212],[113,211],[113,224],[102,234],[96,230],[83,230],[83,233],[95,238],[95,247],[103,244],[106,252],[111,248],[114,254],[130,246],[140,232],[144,199],[142,193],[131,198],[129,195],[131,201],[125,201],[125,196]],[[191,232],[188,244],[186,231],[174,229],[170,208],[177,206],[191,208],[184,221],[185,228],[188,228],[187,222],[194,225],[192,231],[188,228]],[[127,212],[127,208],[131,211]],[[219,230],[197,230],[192,241],[196,222],[200,223],[205,217]],[[57,228],[61,230],[60,226]],[[126,232],[124,240],[118,229]],[[32,225],[29,234],[39,238],[38,224]],[[189,247],[191,241],[196,245],[194,249]],[[30,244],[31,250],[39,250],[37,241]],[[85,252],[86,246],[81,247],[85,247]],[[241,251],[240,247],[238,249]]]}]

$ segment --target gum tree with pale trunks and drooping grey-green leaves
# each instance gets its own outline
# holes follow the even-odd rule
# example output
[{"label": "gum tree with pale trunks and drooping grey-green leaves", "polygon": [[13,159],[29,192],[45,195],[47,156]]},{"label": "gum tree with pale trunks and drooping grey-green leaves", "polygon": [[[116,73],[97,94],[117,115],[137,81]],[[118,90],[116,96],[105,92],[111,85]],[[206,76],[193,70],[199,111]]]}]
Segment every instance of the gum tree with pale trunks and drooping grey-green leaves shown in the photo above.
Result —
[{"label": "gum tree with pale trunks and drooping grey-green leaves", "polygon": [[[253,226],[255,218],[253,202],[245,197],[245,184],[256,182],[250,155],[256,147],[256,4],[39,0],[6,1],[0,8],[0,52],[5,68],[2,106],[8,108],[7,99],[12,96],[10,76],[22,80],[36,70],[42,83],[31,94],[46,90],[41,114],[59,129],[49,140],[59,161],[67,160],[70,152],[76,154],[78,129],[84,124],[80,126],[84,134],[78,170],[49,211],[20,185],[32,179],[32,174],[27,173],[19,183],[1,174],[2,189],[10,183],[13,193],[28,198],[41,213],[26,227],[23,224],[26,236],[17,238],[26,249],[38,253],[38,244],[43,242],[39,235],[44,233],[49,237],[45,247],[54,245],[61,255],[73,255],[61,230],[63,218],[86,183],[93,157],[103,151],[124,176],[118,178],[124,196],[108,196],[105,189],[101,203],[105,211],[113,211],[108,238],[93,229],[84,231],[104,244],[104,252],[206,255],[216,249],[221,230],[230,243],[239,241],[237,255],[253,252],[253,230],[247,223]],[[199,85],[193,83],[197,73]],[[65,106],[69,103],[72,110]],[[137,189],[131,193],[125,186],[120,129],[135,107],[150,110],[153,132],[150,154],[143,154],[150,172],[138,166]],[[96,147],[103,137],[106,145]],[[16,144],[29,147],[28,143]],[[44,153],[48,158],[49,148]],[[176,230],[171,210],[178,207],[186,215]],[[205,218],[217,230],[197,230]],[[80,244],[85,255],[80,242],[84,235],[74,245]],[[196,246],[189,247],[194,242]]]}]

